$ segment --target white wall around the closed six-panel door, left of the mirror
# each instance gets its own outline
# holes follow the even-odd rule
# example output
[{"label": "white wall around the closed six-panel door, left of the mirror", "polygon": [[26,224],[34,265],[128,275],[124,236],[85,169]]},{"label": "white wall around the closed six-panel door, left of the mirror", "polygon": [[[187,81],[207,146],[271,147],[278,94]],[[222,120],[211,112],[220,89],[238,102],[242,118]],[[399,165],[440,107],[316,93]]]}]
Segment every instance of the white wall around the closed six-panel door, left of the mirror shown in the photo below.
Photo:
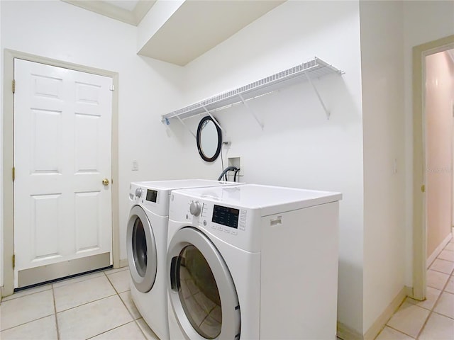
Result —
[{"label": "white wall around the closed six-panel door, left of the mirror", "polygon": [[[179,105],[181,68],[136,55],[137,28],[126,23],[62,1],[0,4],[2,53],[9,48],[119,74],[120,257],[126,259],[131,181],[216,179],[221,172],[217,163],[201,161],[194,138],[182,127],[160,123],[170,105]],[[139,171],[131,171],[133,159]]]}]

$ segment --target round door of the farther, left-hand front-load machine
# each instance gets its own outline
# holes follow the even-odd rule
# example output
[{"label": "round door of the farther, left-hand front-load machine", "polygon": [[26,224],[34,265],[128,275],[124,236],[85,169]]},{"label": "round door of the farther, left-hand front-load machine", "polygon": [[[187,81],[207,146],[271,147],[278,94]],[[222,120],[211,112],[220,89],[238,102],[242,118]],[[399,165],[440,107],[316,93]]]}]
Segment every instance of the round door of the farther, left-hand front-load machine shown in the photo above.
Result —
[{"label": "round door of the farther, left-hand front-load machine", "polygon": [[135,288],[147,293],[155,283],[157,253],[150,220],[139,205],[133,206],[129,214],[126,247],[129,271]]}]

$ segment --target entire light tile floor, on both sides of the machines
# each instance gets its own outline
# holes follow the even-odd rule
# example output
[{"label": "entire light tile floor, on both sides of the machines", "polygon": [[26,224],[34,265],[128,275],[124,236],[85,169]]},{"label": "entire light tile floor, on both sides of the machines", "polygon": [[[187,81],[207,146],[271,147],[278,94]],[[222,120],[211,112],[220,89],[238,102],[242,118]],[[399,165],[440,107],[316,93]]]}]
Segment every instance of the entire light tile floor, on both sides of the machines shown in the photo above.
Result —
[{"label": "entire light tile floor, on both sides of the machines", "polygon": [[[131,300],[128,268],[22,290],[0,304],[0,339],[157,340]],[[427,300],[409,297],[376,340],[454,340],[454,240],[427,271]]]}]

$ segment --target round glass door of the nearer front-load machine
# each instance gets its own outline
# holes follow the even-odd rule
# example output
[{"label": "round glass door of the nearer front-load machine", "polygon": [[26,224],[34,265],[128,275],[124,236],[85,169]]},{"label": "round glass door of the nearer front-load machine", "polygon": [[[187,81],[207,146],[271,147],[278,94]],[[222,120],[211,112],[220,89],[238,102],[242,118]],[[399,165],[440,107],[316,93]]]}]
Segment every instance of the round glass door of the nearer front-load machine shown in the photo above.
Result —
[{"label": "round glass door of the nearer front-load machine", "polygon": [[187,339],[239,339],[235,284],[216,246],[193,227],[179,229],[167,253],[169,297]]}]

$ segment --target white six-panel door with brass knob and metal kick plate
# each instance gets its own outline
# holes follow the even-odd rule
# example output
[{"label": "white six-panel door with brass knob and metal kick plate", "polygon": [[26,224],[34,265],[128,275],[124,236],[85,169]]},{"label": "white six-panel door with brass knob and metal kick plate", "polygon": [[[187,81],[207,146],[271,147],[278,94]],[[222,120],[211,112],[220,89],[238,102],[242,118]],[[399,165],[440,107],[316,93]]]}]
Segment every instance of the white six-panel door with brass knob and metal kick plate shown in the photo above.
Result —
[{"label": "white six-panel door with brass knob and metal kick plate", "polygon": [[14,78],[14,287],[109,266],[112,79],[19,59]]}]

